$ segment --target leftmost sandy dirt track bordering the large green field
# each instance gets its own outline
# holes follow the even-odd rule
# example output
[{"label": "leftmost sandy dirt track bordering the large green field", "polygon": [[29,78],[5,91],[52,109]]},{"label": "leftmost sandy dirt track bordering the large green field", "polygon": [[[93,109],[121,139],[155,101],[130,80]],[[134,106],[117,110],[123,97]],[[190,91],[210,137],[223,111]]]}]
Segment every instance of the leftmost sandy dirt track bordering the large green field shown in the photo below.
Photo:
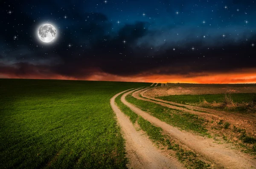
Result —
[{"label": "leftmost sandy dirt track bordering the large green field", "polygon": [[[124,91],[126,92],[126,91]],[[130,160],[128,168],[133,169],[184,169],[184,167],[176,160],[170,159],[163,155],[151,140],[143,135],[142,131],[137,131],[126,116],[115,104],[115,98],[124,93],[120,92],[113,96],[110,100],[111,107],[116,113],[119,125],[121,126],[124,138],[125,149]]]}]

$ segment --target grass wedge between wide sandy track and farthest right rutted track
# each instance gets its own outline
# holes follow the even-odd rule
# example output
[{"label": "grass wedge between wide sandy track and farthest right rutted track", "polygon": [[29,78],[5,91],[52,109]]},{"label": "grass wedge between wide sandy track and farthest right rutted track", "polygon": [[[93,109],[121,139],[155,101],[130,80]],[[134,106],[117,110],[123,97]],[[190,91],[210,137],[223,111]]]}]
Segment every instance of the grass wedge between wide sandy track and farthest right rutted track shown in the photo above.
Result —
[{"label": "grass wedge between wide sandy track and farthest right rutted track", "polygon": [[126,100],[129,103],[136,105],[143,111],[150,112],[154,117],[157,117],[158,119],[169,123],[172,126],[177,126],[185,130],[191,130],[203,135],[209,135],[207,133],[207,129],[203,126],[206,121],[198,117],[198,115],[193,115],[176,109],[170,109],[144,100],[137,100],[131,95],[128,95]]}]

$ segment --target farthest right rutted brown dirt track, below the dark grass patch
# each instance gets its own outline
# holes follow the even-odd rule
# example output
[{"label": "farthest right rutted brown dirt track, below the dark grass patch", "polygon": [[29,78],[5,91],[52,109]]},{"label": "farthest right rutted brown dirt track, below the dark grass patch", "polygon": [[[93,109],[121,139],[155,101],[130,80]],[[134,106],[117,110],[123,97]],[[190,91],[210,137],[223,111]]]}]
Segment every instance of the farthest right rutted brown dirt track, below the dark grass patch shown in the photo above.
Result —
[{"label": "farthest right rutted brown dirt track, below the dark grass patch", "polygon": [[[148,90],[150,90],[150,89],[143,89],[143,90],[141,90],[140,91],[140,95],[142,97],[151,99],[151,101],[152,100],[156,100],[156,101],[163,102],[163,104],[164,103],[170,103],[170,104],[173,104],[173,105],[186,107],[187,109],[199,110],[199,111],[204,111],[204,112],[208,112],[208,113],[187,110],[187,109],[184,109],[184,108],[178,108],[176,106],[171,106],[171,105],[170,106],[166,106],[166,104],[165,104],[166,107],[170,107],[170,108],[173,108],[173,109],[180,109],[180,110],[183,110],[183,111],[186,111],[186,112],[192,112],[193,114],[200,114],[200,115],[207,115],[207,116],[209,116],[209,113],[210,113],[210,115],[213,116],[213,117],[216,117],[216,118],[218,117],[219,119],[221,119],[221,118],[229,118],[232,121],[236,121],[237,124],[241,124],[241,123],[239,123],[239,121],[241,121],[241,122],[243,121],[243,123],[244,123],[244,120],[250,121],[250,122],[256,124],[256,118],[252,118],[249,115],[239,114],[239,113],[233,113],[233,115],[232,115],[230,113],[227,113],[227,112],[224,112],[224,111],[220,111],[220,110],[207,109],[207,108],[198,107],[198,106],[190,106],[190,105],[186,105],[186,104],[175,103],[175,102],[172,102],[172,101],[161,100],[161,99],[157,99],[157,98],[154,98],[154,97],[147,96],[145,93]],[[146,101],[149,101],[149,100],[146,100]],[[159,104],[159,102],[157,104]],[[245,126],[243,126],[243,127],[245,127]]]}]

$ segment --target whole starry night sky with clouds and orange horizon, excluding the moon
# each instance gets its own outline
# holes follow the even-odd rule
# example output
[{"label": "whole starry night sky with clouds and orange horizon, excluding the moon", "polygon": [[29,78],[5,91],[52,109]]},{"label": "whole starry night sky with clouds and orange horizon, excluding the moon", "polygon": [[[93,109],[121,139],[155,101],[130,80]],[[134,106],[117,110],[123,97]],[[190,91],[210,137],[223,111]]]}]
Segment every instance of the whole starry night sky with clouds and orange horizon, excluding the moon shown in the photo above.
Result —
[{"label": "whole starry night sky with clouds and orange horizon, excluding the moon", "polygon": [[256,83],[253,0],[1,0],[0,12],[0,78]]}]

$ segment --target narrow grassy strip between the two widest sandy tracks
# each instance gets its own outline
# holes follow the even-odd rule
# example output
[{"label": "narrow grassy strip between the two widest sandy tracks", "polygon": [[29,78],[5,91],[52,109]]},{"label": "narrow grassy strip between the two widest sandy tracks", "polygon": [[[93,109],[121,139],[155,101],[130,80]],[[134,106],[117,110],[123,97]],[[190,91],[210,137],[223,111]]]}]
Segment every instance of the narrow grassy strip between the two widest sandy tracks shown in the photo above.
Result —
[{"label": "narrow grassy strip between the two widest sandy tracks", "polygon": [[[200,160],[195,152],[186,150],[182,148],[179,144],[175,143],[175,140],[170,142],[170,137],[163,135],[163,129],[152,125],[150,122],[145,120],[143,117],[138,116],[135,112],[129,109],[124,103],[121,102],[120,98],[122,95],[116,97],[116,104],[119,109],[130,117],[132,123],[139,124],[140,128],[146,132],[149,139],[153,140],[155,143],[161,144],[162,146],[167,146],[167,149],[172,149],[175,151],[175,156],[185,164],[189,169],[209,169],[209,164]],[[174,146],[172,146],[174,145]],[[164,148],[162,148],[164,149]]]}]

